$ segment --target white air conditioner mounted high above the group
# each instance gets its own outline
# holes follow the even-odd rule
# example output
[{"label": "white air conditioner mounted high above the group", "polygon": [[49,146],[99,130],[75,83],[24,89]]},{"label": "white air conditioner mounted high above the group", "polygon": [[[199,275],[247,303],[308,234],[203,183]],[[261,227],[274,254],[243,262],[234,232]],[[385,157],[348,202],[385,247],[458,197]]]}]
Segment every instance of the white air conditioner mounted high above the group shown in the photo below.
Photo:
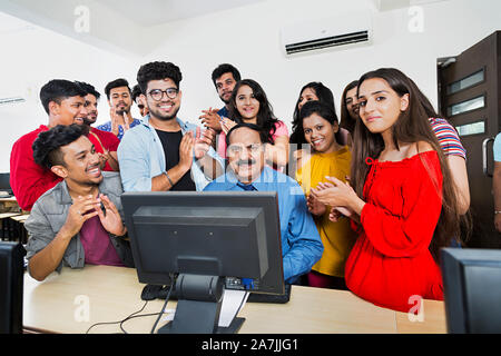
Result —
[{"label": "white air conditioner mounted high above the group", "polygon": [[372,16],[361,12],[297,23],[283,28],[282,44],[286,55],[372,42]]}]

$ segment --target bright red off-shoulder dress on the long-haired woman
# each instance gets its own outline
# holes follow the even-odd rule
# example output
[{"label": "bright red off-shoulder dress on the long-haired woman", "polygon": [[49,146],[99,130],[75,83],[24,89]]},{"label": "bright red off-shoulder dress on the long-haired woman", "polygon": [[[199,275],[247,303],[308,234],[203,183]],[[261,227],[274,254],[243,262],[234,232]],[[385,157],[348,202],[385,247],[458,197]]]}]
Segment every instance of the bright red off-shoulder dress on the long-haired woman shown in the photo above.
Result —
[{"label": "bright red off-shoulder dress on the long-haired woman", "polygon": [[362,228],[345,267],[347,287],[404,313],[415,309],[415,296],[442,300],[442,275],[429,250],[442,209],[438,154],[367,164]]}]

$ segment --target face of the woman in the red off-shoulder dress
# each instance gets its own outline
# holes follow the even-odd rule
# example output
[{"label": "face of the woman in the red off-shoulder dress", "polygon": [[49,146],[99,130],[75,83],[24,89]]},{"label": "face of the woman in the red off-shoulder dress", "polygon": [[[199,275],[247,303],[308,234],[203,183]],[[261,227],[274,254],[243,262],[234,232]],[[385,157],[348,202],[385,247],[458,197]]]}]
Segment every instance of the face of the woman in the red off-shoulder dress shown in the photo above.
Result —
[{"label": "face of the woman in the red off-shoulder dress", "polygon": [[360,117],[373,134],[385,134],[409,107],[409,93],[399,97],[384,79],[364,80],[358,90]]}]

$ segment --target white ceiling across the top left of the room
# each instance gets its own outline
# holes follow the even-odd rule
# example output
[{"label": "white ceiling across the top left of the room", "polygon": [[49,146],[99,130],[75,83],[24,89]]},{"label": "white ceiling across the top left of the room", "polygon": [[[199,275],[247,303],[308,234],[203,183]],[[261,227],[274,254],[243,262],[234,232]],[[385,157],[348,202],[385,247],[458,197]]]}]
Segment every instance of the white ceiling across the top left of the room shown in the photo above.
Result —
[{"label": "white ceiling across the top left of the room", "polygon": [[[144,56],[153,46],[144,39],[156,26],[264,1],[273,0],[1,0],[0,33],[38,26],[119,55]],[[77,30],[86,17],[89,27]]]}]

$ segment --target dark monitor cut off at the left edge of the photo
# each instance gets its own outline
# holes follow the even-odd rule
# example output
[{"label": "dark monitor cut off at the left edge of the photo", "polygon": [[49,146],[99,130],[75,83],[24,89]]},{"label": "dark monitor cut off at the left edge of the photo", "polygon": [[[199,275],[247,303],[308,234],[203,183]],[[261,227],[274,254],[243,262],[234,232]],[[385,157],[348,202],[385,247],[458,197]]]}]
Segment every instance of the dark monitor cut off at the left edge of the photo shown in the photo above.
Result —
[{"label": "dark monitor cut off at the left edge of the photo", "polygon": [[0,241],[0,334],[22,333],[24,255],[21,244]]}]

